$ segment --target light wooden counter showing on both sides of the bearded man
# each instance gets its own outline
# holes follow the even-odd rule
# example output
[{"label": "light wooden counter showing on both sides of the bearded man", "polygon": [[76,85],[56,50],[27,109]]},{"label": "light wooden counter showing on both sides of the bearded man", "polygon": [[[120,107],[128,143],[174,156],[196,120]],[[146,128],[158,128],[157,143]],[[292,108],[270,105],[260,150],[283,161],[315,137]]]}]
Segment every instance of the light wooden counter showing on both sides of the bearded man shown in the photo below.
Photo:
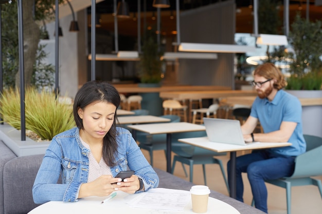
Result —
[{"label": "light wooden counter showing on both sides of the bearded man", "polygon": [[[251,106],[256,96],[229,96],[226,99],[228,104],[241,104]],[[299,98],[302,106],[319,106],[322,105],[322,98]]]}]

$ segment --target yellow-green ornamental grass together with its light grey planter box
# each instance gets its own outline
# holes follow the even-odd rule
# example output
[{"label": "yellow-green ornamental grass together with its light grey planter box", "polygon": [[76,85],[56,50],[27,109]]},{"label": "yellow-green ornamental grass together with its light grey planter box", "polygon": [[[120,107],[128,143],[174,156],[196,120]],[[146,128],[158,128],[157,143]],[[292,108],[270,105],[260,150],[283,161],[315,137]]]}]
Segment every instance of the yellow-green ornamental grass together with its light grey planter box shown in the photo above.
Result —
[{"label": "yellow-green ornamental grass together with its light grey planter box", "polygon": [[[63,100],[64,101],[64,100]],[[25,92],[26,141],[21,141],[20,90],[5,89],[0,98],[0,140],[17,156],[45,153],[49,141],[75,126],[73,106],[56,98],[55,93],[28,87]]]}]

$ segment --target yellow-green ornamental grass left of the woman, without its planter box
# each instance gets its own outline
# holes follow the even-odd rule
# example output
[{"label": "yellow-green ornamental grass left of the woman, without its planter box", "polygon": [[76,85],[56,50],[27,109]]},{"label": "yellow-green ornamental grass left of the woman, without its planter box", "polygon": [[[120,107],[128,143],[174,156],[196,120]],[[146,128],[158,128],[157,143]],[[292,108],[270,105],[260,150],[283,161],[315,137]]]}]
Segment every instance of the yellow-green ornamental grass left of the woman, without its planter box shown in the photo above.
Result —
[{"label": "yellow-green ornamental grass left of the woman, without its planter box", "polygon": [[[0,114],[3,121],[21,129],[20,91],[7,89],[0,99]],[[39,135],[42,140],[51,140],[56,134],[75,126],[73,106],[56,99],[52,92],[30,87],[25,91],[26,129]]]}]

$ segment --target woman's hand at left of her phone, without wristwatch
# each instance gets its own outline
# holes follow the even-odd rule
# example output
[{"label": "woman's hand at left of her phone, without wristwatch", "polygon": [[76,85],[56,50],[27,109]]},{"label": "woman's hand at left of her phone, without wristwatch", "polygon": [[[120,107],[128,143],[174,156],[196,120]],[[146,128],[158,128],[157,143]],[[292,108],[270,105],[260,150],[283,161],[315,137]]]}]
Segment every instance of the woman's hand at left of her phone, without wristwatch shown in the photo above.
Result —
[{"label": "woman's hand at left of her phone, without wristwatch", "polygon": [[100,176],[95,181],[82,184],[79,189],[78,198],[88,196],[109,196],[109,194],[117,190],[119,185],[116,185],[116,183],[120,181],[120,178],[113,178],[111,175]]}]

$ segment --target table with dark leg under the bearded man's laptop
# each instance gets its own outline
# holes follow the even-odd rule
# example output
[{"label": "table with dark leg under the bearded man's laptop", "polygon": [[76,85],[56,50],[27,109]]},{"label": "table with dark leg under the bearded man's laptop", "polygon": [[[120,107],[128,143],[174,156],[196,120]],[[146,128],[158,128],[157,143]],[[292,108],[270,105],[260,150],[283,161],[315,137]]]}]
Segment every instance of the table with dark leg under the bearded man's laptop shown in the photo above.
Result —
[{"label": "table with dark leg under the bearded man's laptop", "polygon": [[276,148],[290,146],[291,143],[272,143],[272,142],[263,142],[263,143],[254,143],[246,146],[240,146],[236,144],[224,144],[211,142],[207,137],[203,138],[185,138],[178,139],[178,141],[193,146],[198,146],[204,149],[209,149],[216,152],[230,152],[230,170],[229,170],[229,195],[231,198],[236,199],[236,152],[245,151],[245,150],[254,150],[254,149],[266,149],[266,148]]}]

